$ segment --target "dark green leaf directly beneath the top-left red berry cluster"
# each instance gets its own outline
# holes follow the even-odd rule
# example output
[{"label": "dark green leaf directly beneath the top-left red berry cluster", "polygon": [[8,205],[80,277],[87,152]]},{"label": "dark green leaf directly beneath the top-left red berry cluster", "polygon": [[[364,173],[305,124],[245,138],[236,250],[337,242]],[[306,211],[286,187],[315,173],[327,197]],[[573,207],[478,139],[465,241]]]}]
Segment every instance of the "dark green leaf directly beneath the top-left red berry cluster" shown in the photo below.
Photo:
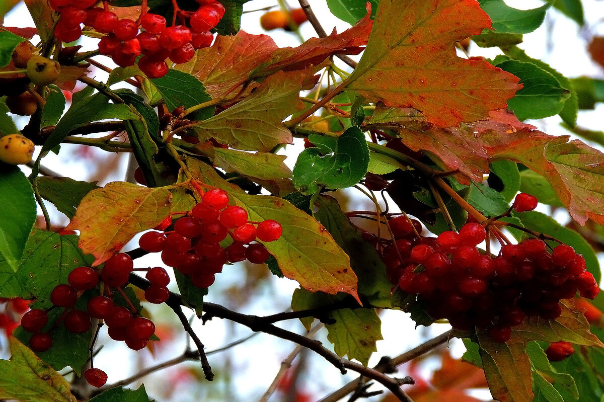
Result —
[{"label": "dark green leaf directly beneath the top-left red berry cluster", "polygon": [[[170,69],[168,74],[151,80],[164,98],[169,110],[184,106],[185,109],[212,100],[204,84],[186,72]],[[187,116],[190,120],[205,120],[214,115],[216,106],[205,107]]]}]

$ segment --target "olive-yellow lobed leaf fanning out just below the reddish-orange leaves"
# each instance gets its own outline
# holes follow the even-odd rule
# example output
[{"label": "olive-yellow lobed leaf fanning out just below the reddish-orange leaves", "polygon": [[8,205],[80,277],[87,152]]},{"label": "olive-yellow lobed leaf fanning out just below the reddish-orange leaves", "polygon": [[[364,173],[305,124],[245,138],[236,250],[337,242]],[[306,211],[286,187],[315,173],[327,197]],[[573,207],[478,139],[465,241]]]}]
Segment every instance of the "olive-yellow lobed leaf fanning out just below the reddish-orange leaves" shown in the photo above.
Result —
[{"label": "olive-yellow lobed leaf fanning out just below the reddish-orange leaves", "polygon": [[291,144],[292,133],[281,121],[304,104],[298,98],[309,71],[277,72],[244,100],[217,115],[191,124],[201,141],[214,138],[240,150],[268,152]]}]

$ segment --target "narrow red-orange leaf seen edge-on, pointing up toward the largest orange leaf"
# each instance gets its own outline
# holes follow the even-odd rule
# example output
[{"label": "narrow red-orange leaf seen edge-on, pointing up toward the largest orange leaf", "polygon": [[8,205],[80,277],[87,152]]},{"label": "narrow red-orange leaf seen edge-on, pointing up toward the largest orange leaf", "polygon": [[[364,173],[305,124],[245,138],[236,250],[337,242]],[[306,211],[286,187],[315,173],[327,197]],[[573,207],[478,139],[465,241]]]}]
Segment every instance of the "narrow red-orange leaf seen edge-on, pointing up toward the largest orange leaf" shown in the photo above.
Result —
[{"label": "narrow red-orange leaf seen edge-on, pointing up toward the largest orange leaf", "polygon": [[369,14],[341,34],[333,30],[327,37],[313,37],[295,48],[281,48],[272,57],[255,69],[252,77],[265,77],[276,71],[291,71],[316,66],[332,54],[359,54],[361,46],[367,45],[373,21]]}]

